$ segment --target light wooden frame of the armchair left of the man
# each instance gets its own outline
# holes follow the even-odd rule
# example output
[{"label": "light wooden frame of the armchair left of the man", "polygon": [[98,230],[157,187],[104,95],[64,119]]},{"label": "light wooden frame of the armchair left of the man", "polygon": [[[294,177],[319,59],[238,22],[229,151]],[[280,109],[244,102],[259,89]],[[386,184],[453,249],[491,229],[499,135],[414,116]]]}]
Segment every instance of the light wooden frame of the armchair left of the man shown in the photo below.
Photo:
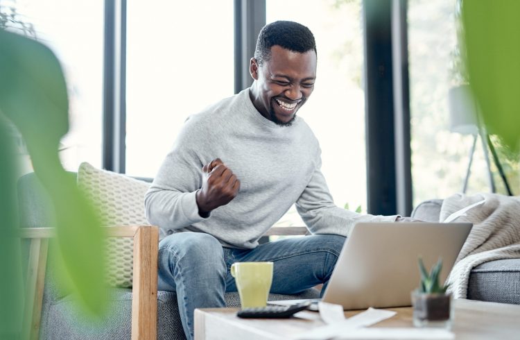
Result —
[{"label": "light wooden frame of the armchair left of the man", "polygon": [[[132,284],[132,339],[157,339],[157,253],[156,226],[104,227],[108,237],[134,239]],[[49,239],[53,228],[21,228],[19,237],[31,239],[26,279],[23,339],[38,339],[44,293]]]}]

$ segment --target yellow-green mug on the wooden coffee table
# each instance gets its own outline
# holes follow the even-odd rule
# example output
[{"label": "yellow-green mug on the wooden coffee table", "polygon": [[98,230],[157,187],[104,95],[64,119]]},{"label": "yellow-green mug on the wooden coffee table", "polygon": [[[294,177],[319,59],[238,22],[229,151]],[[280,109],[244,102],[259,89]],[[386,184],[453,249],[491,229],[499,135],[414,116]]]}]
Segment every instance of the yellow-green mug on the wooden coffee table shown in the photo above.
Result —
[{"label": "yellow-green mug on the wooden coffee table", "polygon": [[272,262],[235,262],[231,266],[242,308],[265,307],[272,283]]}]

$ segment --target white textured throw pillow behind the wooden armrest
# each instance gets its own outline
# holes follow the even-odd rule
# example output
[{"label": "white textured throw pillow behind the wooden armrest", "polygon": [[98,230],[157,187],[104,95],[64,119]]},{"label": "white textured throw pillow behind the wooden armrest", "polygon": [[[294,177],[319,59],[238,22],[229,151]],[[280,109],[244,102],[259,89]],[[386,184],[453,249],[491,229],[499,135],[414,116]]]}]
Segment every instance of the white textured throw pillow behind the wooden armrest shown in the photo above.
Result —
[{"label": "white textured throw pillow behind the wooden armrest", "polygon": [[[144,194],[150,183],[84,162],[78,170],[78,187],[97,205],[103,226],[149,224],[144,214]],[[110,237],[105,244],[107,282],[112,287],[132,287],[134,240]]]}]

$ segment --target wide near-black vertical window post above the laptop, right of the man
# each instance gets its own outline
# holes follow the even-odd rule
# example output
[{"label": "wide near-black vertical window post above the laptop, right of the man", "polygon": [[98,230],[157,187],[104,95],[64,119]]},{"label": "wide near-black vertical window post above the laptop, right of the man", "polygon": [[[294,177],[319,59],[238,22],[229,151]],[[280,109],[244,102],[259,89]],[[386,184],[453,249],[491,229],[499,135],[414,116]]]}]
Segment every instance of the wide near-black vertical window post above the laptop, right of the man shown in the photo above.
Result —
[{"label": "wide near-black vertical window post above the laptop, right of the man", "polygon": [[397,212],[390,0],[363,0],[367,212]]}]

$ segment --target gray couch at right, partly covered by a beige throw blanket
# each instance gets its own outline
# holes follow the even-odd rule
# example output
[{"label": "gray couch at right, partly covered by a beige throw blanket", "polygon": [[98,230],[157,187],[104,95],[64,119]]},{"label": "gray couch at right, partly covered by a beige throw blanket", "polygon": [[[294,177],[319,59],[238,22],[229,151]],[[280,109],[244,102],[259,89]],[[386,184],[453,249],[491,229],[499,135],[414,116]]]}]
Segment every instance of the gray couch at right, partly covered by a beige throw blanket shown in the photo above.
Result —
[{"label": "gray couch at right, partly covered by a beige throw blanket", "polygon": [[[412,217],[438,222],[441,205],[440,199],[424,201],[415,207]],[[476,266],[469,275],[467,298],[519,305],[520,259],[489,261]]]}]

